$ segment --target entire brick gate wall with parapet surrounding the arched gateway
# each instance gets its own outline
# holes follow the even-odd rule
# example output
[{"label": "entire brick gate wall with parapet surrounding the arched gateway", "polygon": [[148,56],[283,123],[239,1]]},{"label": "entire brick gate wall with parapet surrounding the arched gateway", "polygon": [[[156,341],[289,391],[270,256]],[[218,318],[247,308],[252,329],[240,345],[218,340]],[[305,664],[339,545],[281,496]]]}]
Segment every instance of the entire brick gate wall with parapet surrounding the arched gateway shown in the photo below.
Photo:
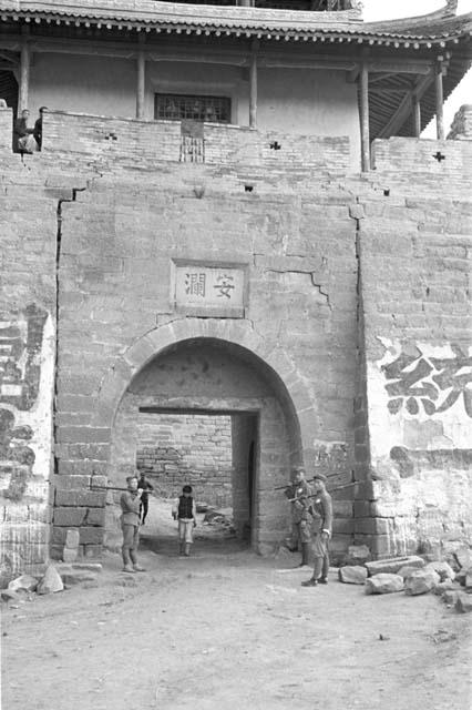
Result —
[{"label": "entire brick gate wall with parapet surrounding the arched gateway", "polygon": [[274,152],[219,126],[193,162],[175,124],[113,121],[112,144],[109,119],[48,113],[41,154],[1,149],[3,564],[61,557],[71,528],[100,554],[90,484],[135,468],[140,410],[232,418],[224,485],[261,554],[289,524],[273,489],[301,462],[346,486],[336,555],[470,539],[472,144],[377,141],[360,176],[343,139],[278,136]]}]

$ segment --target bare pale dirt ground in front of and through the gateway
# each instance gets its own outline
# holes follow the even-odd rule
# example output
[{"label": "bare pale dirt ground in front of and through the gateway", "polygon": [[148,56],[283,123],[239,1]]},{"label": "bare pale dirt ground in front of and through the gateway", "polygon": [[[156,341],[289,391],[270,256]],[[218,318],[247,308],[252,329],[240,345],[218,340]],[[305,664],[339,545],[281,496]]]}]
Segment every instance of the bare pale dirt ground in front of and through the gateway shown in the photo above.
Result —
[{"label": "bare pale dirt ground in front of and through the gateway", "polygon": [[302,588],[296,555],[261,559],[207,526],[178,558],[157,517],[146,572],[110,552],[95,586],[3,605],[4,710],[471,710],[472,615],[366,596],[334,569]]}]

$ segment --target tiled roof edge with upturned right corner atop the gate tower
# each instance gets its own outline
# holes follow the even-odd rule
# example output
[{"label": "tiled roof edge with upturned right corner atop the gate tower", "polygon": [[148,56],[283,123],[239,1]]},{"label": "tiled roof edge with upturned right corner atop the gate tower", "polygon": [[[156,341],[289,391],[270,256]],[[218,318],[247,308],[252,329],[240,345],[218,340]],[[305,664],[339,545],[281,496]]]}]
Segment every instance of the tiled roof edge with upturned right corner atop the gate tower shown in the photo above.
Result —
[{"label": "tiled roof edge with upturned right corner atop the gate tower", "polygon": [[157,32],[236,34],[268,39],[358,40],[376,44],[421,45],[472,34],[472,13],[455,17],[453,0],[420,18],[362,22],[357,10],[302,12],[203,6],[154,0],[0,0],[3,19],[111,28],[144,27]]}]

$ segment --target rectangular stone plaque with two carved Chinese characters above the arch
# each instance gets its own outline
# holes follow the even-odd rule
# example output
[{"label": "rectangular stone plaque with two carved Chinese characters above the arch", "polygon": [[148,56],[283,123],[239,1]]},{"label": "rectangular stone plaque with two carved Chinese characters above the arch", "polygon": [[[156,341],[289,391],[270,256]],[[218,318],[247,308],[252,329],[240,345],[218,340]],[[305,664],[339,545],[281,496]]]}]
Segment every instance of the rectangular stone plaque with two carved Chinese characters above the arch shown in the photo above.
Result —
[{"label": "rectangular stone plaque with two carved Chinese characters above the arch", "polygon": [[202,264],[175,265],[175,305],[216,312],[245,306],[245,268]]}]

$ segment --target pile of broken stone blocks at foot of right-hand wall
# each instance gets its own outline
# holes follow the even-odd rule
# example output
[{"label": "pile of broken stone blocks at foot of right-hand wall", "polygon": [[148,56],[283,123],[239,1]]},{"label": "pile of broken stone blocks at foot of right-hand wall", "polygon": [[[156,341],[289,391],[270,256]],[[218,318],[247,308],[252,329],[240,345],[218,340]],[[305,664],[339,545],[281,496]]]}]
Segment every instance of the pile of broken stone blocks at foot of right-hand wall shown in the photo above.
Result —
[{"label": "pile of broken stone blocks at foot of right-hand wall", "polygon": [[472,549],[469,547],[456,550],[449,561],[427,564],[422,557],[410,555],[362,564],[362,556],[352,551],[350,560],[356,559],[357,564],[339,568],[339,581],[363,585],[368,595],[403,591],[417,597],[432,592],[456,611],[472,611]]}]

